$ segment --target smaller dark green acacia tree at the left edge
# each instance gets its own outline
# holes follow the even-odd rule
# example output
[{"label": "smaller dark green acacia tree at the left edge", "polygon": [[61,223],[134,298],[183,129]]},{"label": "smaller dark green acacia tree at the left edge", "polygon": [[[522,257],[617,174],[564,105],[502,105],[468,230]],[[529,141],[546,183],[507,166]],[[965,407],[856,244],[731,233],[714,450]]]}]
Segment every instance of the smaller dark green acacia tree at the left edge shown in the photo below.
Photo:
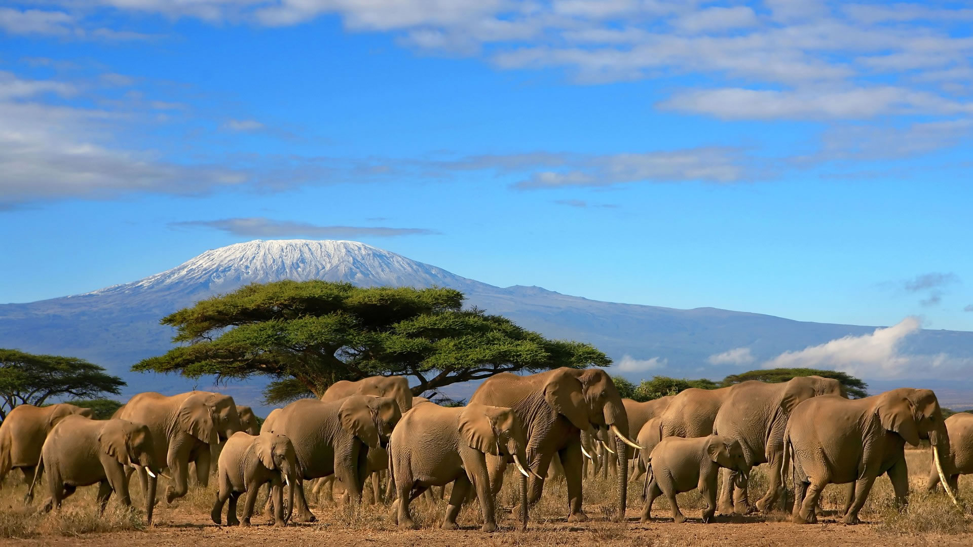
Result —
[{"label": "smaller dark green acacia tree at the left edge", "polygon": [[105,369],[85,359],[0,349],[0,419],[19,405],[39,407],[65,395],[82,399],[118,395],[124,385],[121,378],[105,374]]}]

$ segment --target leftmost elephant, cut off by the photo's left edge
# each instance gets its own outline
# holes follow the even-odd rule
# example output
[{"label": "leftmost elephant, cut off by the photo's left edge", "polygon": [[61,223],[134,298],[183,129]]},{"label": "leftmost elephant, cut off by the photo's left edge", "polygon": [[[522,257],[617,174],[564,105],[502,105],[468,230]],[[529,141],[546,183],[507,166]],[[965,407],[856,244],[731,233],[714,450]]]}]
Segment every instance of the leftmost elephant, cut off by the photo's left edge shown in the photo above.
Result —
[{"label": "leftmost elephant, cut off by the photo's left edge", "polygon": [[20,469],[28,485],[34,481],[37,459],[44,439],[61,419],[69,416],[94,418],[94,411],[68,403],[49,407],[20,405],[0,423],[0,488],[11,469]]}]

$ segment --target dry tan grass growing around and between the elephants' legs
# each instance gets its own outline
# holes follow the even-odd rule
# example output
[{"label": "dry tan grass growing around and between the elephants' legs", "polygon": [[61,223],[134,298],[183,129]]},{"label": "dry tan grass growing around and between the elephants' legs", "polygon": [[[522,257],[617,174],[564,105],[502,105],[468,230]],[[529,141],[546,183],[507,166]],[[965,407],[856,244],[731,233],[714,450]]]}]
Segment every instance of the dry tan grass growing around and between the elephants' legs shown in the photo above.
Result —
[{"label": "dry tan grass growing around and between the elephants' legs", "polygon": [[[957,537],[956,540],[965,542],[973,539],[973,536],[966,537],[964,534],[973,533],[973,522],[971,522],[970,510],[973,504],[967,502],[966,511],[956,510],[949,498],[943,492],[924,492],[926,473],[929,469],[930,454],[928,451],[908,451],[907,457],[910,466],[910,486],[911,503],[900,511],[894,506],[891,484],[885,477],[880,477],[869,496],[868,502],[861,511],[860,517],[865,525],[861,527],[845,528],[838,524],[841,516],[838,513],[844,508],[846,503],[847,488],[841,485],[832,485],[825,489],[821,497],[822,508],[825,516],[821,518],[821,525],[818,527],[796,527],[790,524],[781,523],[786,521],[786,513],[777,512],[772,515],[748,515],[745,517],[730,517],[722,520],[728,526],[730,533],[746,535],[753,530],[761,532],[760,528],[753,527],[783,527],[778,533],[782,537],[789,537],[790,534],[801,530],[801,533],[811,532],[812,529],[828,530],[828,533],[847,534],[851,530],[872,530],[871,534],[902,534],[911,537],[931,538]],[[95,487],[79,489],[78,492],[66,499],[61,511],[54,511],[49,515],[38,514],[37,509],[40,501],[44,497],[38,494],[38,501],[32,506],[24,506],[22,497],[26,487],[22,484],[19,477],[14,478],[12,474],[8,477],[2,491],[0,491],[0,538],[44,538],[44,537],[80,537],[92,532],[133,532],[142,533],[145,530],[144,512],[142,506],[142,492],[137,481],[132,485],[132,500],[135,508],[126,509],[114,502],[110,502],[108,509],[103,516],[98,516],[95,509],[94,495]],[[186,533],[187,525],[192,529],[210,529],[209,511],[216,496],[215,481],[211,481],[207,488],[198,486],[191,488],[188,495],[167,506],[161,501],[156,509],[157,527],[149,529],[150,533],[160,533],[164,529],[183,530]],[[165,487],[168,482],[160,479],[159,496],[163,497]],[[520,527],[516,518],[511,514],[511,508],[517,503],[518,494],[516,492],[518,481],[513,475],[509,475],[504,481],[503,489],[498,496],[497,503],[497,524],[506,531],[517,530]],[[750,500],[755,501],[764,492],[767,486],[766,475],[763,468],[755,469],[751,474]],[[486,545],[500,545],[504,547],[517,547],[520,545],[569,545],[599,543],[610,545],[684,545],[691,544],[694,547],[708,545],[710,539],[698,537],[693,541],[687,541],[686,532],[692,527],[699,526],[703,529],[713,529],[713,526],[721,525],[683,525],[681,527],[668,524],[670,515],[668,504],[665,498],[656,500],[653,508],[653,516],[656,518],[651,525],[639,527],[637,525],[637,515],[642,508],[641,491],[642,481],[631,481],[629,485],[629,524],[619,525],[609,522],[614,517],[614,480],[609,477],[607,480],[589,477],[585,482],[584,490],[584,509],[590,521],[584,524],[568,524],[565,522],[567,515],[567,492],[566,485],[562,479],[549,479],[545,485],[545,492],[541,500],[530,510],[530,529],[527,532],[498,534],[490,537]],[[962,477],[960,479],[961,500],[962,492],[973,492],[973,476]],[[308,489],[309,491],[309,489]],[[255,525],[262,525],[269,519],[263,515],[263,502],[266,500],[266,489],[258,498],[257,511],[253,517]],[[457,535],[441,536],[449,534],[445,530],[439,530],[443,521],[446,505],[449,499],[450,489],[447,489],[444,500],[438,498],[435,502],[429,502],[420,497],[411,505],[414,522],[419,530],[414,533],[434,534],[432,537],[461,537]],[[308,496],[312,497],[308,492]],[[793,499],[792,495],[788,496]],[[973,494],[970,495],[973,500]],[[700,511],[705,502],[700,492],[686,492],[678,496],[680,508],[690,518],[691,522],[699,523]],[[332,536],[358,537],[362,534],[371,534],[381,537],[398,537],[402,534],[391,524],[388,518],[389,508],[386,505],[376,504],[344,504],[334,502],[315,503],[313,498],[309,499],[311,509],[318,518],[318,523],[305,525],[297,530],[314,530],[328,532]],[[240,498],[239,509],[242,510],[243,498]],[[225,518],[225,517],[224,517]],[[480,514],[480,506],[474,501],[464,505],[460,512],[457,523],[460,528],[465,530],[456,533],[479,533],[476,530],[483,524]],[[763,524],[766,523],[766,524]],[[780,524],[775,524],[780,523]],[[669,528],[673,527],[673,528]],[[688,528],[687,528],[688,527]],[[258,527],[263,529],[263,527]],[[294,529],[289,527],[289,529]],[[640,533],[642,529],[651,529],[651,533]],[[270,531],[270,529],[268,529]],[[674,531],[670,531],[674,530]],[[767,530],[766,528],[762,530]],[[849,531],[842,531],[849,530]],[[565,532],[571,533],[565,533]],[[279,532],[274,532],[279,533]],[[293,532],[291,532],[293,533]],[[727,532],[723,532],[727,533]],[[695,537],[698,532],[693,532]],[[130,536],[129,536],[130,537]],[[151,536],[149,536],[151,537]],[[276,537],[276,535],[272,536]],[[486,536],[485,536],[486,537]],[[411,540],[410,540],[411,541]],[[925,541],[925,540],[923,540]],[[719,541],[713,540],[712,544]],[[303,544],[303,541],[296,541]],[[435,541],[433,543],[436,543]],[[881,544],[882,541],[875,543],[859,543],[863,545]],[[419,543],[415,543],[419,544]],[[465,544],[465,541],[464,541]],[[749,543],[746,543],[749,544]],[[761,544],[761,543],[756,543]],[[763,544],[776,544],[768,540]]]}]

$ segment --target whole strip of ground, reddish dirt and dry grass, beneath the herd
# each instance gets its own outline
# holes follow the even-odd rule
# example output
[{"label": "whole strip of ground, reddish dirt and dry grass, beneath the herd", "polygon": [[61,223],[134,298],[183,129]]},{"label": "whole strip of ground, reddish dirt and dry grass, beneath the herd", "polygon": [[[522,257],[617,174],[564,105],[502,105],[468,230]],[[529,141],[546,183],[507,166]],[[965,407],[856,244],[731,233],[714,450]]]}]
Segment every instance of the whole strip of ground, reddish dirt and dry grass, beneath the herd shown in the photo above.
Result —
[{"label": "whole strip of ground, reddish dirt and dry grass, beneath the herd", "polygon": [[[165,545],[242,545],[245,547],[292,547],[342,545],[357,546],[428,546],[446,545],[476,547],[520,547],[559,545],[626,545],[694,547],[745,545],[973,545],[973,476],[960,477],[959,501],[956,508],[942,492],[925,492],[925,481],[931,465],[931,451],[909,450],[910,492],[909,506],[899,511],[893,504],[891,484],[880,477],[861,511],[863,524],[845,526],[838,513],[845,503],[846,487],[830,485],[821,496],[824,515],[815,525],[794,525],[789,515],[775,512],[770,515],[717,517],[715,523],[703,524],[701,509],[705,506],[699,492],[679,494],[678,502],[689,521],[682,525],[671,522],[665,498],[656,500],[653,521],[639,524],[642,509],[642,480],[629,485],[628,523],[612,522],[614,481],[611,477],[586,477],[584,507],[589,521],[566,522],[566,490],[563,480],[551,477],[544,495],[531,508],[526,531],[521,531],[510,508],[516,503],[516,480],[504,482],[499,494],[505,510],[498,515],[501,531],[483,533],[476,501],[465,505],[457,519],[461,529],[444,530],[438,525],[446,511],[446,501],[431,502],[422,497],[412,504],[418,529],[400,530],[387,518],[388,508],[382,504],[363,503],[360,506],[341,502],[315,503],[306,489],[316,523],[290,524],[273,528],[266,514],[254,515],[250,528],[219,527],[209,519],[216,495],[215,481],[207,488],[191,488],[186,497],[171,505],[161,501],[156,508],[154,524],[145,526],[140,509],[127,510],[109,502],[104,515],[98,516],[95,504],[97,486],[80,488],[64,501],[59,512],[39,514],[40,502],[46,497],[38,492],[33,505],[24,505],[27,486],[19,474],[8,476],[0,491],[0,544],[138,547]],[[165,492],[165,479],[160,478],[159,492]],[[39,485],[40,486],[40,485]],[[750,498],[755,501],[766,487],[764,466],[751,473]],[[265,487],[266,489],[266,487]],[[132,500],[140,506],[142,492],[133,481]],[[449,492],[447,492],[447,497]],[[266,499],[262,492],[261,501]],[[261,503],[258,502],[258,506]],[[239,504],[242,510],[242,499]],[[259,509],[258,509],[259,510]]]}]

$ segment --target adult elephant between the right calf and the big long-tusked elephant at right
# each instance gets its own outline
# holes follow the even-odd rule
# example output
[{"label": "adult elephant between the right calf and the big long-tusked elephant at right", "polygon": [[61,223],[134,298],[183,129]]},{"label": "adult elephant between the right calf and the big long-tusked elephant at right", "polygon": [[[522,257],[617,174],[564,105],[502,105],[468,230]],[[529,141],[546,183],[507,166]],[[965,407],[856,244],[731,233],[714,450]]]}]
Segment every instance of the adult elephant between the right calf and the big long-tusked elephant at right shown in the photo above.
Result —
[{"label": "adult elephant between the right calf and the big long-tusked elephant at right", "polygon": [[[750,467],[770,463],[767,492],[756,507],[767,511],[774,506],[782,488],[780,469],[784,456],[784,429],[791,411],[800,403],[820,395],[847,397],[837,380],[805,376],[783,383],[751,380],[733,385],[713,421],[713,433],[738,441]],[[741,486],[742,485],[742,488]],[[744,481],[737,472],[724,472],[719,511],[723,514],[750,510]]]}]

